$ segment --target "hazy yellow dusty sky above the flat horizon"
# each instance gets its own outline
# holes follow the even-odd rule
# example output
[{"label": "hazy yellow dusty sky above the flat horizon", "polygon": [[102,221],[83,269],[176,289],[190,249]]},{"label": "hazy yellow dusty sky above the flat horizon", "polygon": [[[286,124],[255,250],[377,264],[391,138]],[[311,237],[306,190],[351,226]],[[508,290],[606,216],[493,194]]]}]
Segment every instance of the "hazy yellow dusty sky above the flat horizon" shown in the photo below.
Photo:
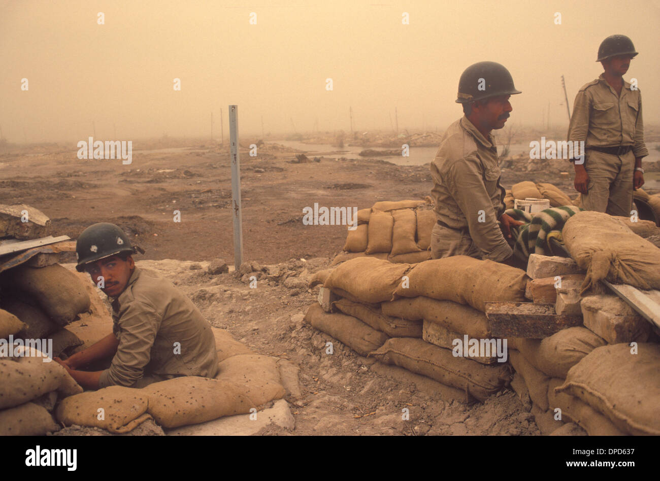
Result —
[{"label": "hazy yellow dusty sky above the flat horizon", "polygon": [[[104,13],[104,24],[97,23]],[[410,24],[402,24],[409,13]],[[555,13],[562,24],[555,24]],[[250,24],[251,13],[256,24]],[[659,123],[657,1],[0,1],[0,127],[10,142],[240,133],[444,129],[459,77],[504,64],[523,94],[510,122],[568,126],[600,42],[632,38],[644,121]],[[28,91],[20,89],[28,79]],[[181,79],[175,91],[173,79]],[[333,79],[327,91],[325,79]]]}]

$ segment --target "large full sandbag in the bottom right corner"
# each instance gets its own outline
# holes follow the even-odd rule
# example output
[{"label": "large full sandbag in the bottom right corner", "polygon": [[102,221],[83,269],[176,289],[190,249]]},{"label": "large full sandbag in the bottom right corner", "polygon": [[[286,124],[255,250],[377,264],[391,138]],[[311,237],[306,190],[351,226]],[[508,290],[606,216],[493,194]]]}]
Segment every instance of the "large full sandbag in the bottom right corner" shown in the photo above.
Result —
[{"label": "large full sandbag in the bottom right corner", "polygon": [[619,430],[660,435],[660,344],[640,342],[595,348],[568,371],[558,393],[578,397]]}]

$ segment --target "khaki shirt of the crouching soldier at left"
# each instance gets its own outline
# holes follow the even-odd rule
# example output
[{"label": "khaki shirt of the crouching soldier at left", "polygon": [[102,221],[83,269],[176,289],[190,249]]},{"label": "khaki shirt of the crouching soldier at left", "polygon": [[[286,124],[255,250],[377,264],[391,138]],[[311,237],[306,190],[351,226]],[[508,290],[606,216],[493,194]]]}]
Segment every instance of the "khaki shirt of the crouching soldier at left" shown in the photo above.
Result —
[{"label": "khaki shirt of the crouching soldier at left", "polygon": [[[143,387],[181,375],[218,373],[211,325],[191,300],[158,274],[136,267],[112,310],[119,346],[110,368],[101,373],[99,387]],[[180,354],[175,354],[177,346]]]}]

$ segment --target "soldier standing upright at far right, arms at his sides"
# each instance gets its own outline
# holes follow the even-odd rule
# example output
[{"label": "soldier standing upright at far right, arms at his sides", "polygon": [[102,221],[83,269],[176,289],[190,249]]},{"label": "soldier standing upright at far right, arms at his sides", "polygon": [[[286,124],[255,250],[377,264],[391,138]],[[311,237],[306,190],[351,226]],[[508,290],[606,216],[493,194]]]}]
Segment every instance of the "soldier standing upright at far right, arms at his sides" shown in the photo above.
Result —
[{"label": "soldier standing upright at far right, arms at his sides", "polygon": [[568,139],[584,141],[584,162],[575,164],[575,188],[587,210],[630,216],[632,191],[644,185],[642,157],[649,152],[644,144],[642,96],[636,84],[623,79],[636,55],[625,35],[603,40],[597,62],[605,72],[576,96]]}]

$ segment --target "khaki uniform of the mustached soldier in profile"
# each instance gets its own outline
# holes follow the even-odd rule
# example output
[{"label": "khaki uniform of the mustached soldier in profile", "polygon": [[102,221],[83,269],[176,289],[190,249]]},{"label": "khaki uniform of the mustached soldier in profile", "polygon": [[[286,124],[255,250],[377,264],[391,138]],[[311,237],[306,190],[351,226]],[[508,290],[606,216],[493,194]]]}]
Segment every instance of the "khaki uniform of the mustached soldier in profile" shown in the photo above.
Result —
[{"label": "khaki uniform of the mustached soldier in profile", "polygon": [[469,255],[503,261],[512,255],[498,224],[505,207],[497,147],[465,115],[442,138],[431,177],[439,221],[431,236],[434,259]]}]

